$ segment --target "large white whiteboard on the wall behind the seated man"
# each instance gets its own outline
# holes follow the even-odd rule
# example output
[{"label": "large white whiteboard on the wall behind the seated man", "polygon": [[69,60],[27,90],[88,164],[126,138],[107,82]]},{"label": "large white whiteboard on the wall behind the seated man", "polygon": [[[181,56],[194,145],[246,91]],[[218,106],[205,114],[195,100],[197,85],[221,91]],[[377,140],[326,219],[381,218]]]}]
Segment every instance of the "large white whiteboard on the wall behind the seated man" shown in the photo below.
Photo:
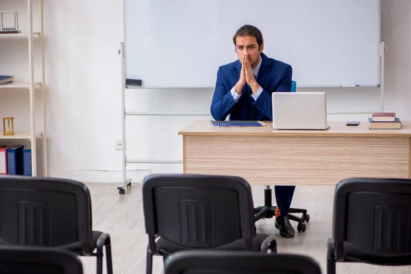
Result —
[{"label": "large white whiteboard on the wall behind the seated man", "polygon": [[379,84],[379,0],[124,0],[126,78],[142,87],[212,87],[258,27],[264,53],[298,86]]}]

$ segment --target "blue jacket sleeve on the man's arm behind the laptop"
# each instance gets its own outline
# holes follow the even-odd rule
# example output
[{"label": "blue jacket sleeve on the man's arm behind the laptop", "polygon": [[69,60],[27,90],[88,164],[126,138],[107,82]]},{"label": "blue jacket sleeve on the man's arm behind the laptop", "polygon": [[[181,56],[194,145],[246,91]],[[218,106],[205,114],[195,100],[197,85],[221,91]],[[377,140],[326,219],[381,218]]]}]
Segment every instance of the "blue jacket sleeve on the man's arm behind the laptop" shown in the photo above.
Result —
[{"label": "blue jacket sleeve on the man's arm behind the laptop", "polygon": [[[292,82],[292,67],[290,65],[286,66],[282,79],[279,85],[273,92],[290,92]],[[257,101],[253,103],[253,106],[258,108],[265,116],[269,117],[273,121],[273,100],[271,98],[271,92],[268,90],[262,90],[261,95],[258,97]]]}]

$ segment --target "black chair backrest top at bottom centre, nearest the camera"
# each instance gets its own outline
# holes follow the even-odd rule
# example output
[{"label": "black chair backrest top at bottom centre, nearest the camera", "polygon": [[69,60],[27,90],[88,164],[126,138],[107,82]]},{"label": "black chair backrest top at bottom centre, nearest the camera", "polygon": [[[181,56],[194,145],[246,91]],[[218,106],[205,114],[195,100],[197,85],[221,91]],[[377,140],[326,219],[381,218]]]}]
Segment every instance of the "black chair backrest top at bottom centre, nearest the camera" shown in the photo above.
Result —
[{"label": "black chair backrest top at bottom centre, nearest the camera", "polygon": [[306,256],[252,251],[179,251],[164,266],[164,274],[321,274],[319,264]]}]

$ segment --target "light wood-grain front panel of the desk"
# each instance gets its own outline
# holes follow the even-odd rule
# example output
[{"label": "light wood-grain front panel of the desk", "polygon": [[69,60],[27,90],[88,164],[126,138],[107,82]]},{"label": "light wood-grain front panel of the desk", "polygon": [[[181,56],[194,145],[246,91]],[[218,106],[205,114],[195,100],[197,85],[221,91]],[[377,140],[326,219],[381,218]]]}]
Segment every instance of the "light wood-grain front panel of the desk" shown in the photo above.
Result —
[{"label": "light wood-grain front panel of the desk", "polygon": [[186,136],[186,173],[238,175],[250,184],[337,184],[410,176],[408,137]]}]

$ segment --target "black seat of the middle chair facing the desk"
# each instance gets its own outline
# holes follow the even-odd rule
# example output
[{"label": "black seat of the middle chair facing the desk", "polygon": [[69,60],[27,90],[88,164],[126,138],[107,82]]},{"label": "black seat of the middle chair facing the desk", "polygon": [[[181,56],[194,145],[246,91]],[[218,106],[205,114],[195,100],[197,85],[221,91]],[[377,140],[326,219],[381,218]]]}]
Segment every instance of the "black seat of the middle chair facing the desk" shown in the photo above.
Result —
[{"label": "black seat of the middle chair facing the desk", "polygon": [[[253,251],[260,251],[261,243],[262,241],[267,238],[268,235],[266,234],[256,234],[256,236],[253,238],[252,243],[251,243],[251,248]],[[174,253],[177,251],[183,251],[183,250],[193,250],[193,249],[201,249],[198,247],[185,247],[183,245],[177,245],[174,242],[170,242],[169,240],[166,240],[164,238],[159,238],[157,242],[155,242],[155,245],[158,250],[164,252],[164,253]],[[245,240],[235,240],[234,242],[230,242],[226,245],[220,245],[218,247],[206,247],[204,249],[216,249],[216,250],[245,250]]]}]

